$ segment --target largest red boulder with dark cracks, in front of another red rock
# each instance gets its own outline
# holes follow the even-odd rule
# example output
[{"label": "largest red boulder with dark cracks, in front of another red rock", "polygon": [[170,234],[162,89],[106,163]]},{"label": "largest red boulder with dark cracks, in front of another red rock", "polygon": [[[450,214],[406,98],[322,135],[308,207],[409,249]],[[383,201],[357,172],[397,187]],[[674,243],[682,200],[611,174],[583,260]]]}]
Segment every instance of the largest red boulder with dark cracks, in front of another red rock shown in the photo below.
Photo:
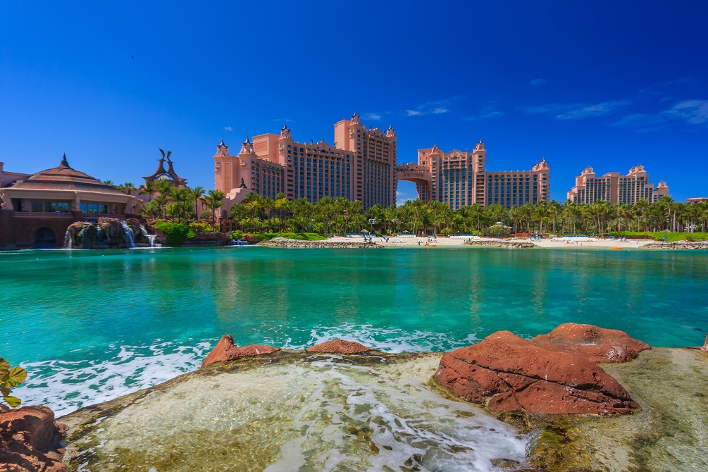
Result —
[{"label": "largest red boulder with dark cracks, in front of another red rock", "polygon": [[598,364],[498,331],[449,352],[435,374],[442,386],[490,410],[541,414],[614,414],[639,410]]}]

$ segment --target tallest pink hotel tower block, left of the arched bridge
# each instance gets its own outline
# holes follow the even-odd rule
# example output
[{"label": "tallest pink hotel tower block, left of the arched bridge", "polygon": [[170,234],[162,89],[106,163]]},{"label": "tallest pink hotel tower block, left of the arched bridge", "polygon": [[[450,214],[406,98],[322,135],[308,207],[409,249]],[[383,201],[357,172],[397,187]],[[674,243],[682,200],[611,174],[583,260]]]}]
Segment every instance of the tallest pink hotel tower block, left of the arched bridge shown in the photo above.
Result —
[{"label": "tallest pink hotel tower block, left of the arched bridge", "polygon": [[394,129],[366,129],[356,113],[334,125],[332,145],[296,142],[285,125],[280,134],[261,134],[253,142],[246,137],[236,156],[222,139],[214,160],[215,188],[231,205],[251,192],[270,198],[282,192],[288,199],[313,203],[345,197],[360,200],[365,208],[396,202]]}]

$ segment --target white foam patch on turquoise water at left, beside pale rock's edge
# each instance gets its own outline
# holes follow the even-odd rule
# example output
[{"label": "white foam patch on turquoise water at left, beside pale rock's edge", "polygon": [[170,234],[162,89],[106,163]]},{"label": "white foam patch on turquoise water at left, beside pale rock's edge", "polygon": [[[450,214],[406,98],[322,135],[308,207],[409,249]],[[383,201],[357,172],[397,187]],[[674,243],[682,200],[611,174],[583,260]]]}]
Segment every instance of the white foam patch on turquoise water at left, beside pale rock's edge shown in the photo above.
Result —
[{"label": "white foam patch on turquoise water at left, beside pale rock's edge", "polygon": [[[113,400],[198,369],[214,341],[193,346],[156,341],[147,346],[110,346],[106,360],[48,360],[21,364],[24,384],[13,390],[23,405],[46,405],[55,415]],[[76,353],[74,352],[74,357]]]}]

